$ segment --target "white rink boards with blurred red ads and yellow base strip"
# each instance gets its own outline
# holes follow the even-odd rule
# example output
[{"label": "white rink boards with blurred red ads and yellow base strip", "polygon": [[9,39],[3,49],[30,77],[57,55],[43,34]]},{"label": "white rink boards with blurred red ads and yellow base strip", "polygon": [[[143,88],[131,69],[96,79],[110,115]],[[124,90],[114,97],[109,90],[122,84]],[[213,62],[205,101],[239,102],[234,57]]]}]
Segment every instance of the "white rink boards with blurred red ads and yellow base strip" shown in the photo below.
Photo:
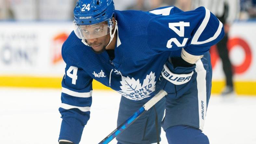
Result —
[{"label": "white rink boards with blurred red ads and yellow base strip", "polygon": [[[72,31],[72,22],[0,22],[0,86],[60,88],[65,63],[62,43]],[[237,94],[256,95],[256,21],[235,23],[229,35],[229,55],[234,68]],[[212,92],[224,87],[222,63],[211,48]],[[98,82],[94,89],[110,90]]]}]

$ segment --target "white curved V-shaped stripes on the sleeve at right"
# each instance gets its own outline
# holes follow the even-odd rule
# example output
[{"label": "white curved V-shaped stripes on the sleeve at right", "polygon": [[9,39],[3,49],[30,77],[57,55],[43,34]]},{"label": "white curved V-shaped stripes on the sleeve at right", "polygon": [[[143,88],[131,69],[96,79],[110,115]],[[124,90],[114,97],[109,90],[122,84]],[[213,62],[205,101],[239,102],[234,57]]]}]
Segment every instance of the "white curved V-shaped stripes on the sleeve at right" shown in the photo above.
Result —
[{"label": "white curved V-shaped stripes on the sleeve at right", "polygon": [[219,27],[218,27],[218,30],[215,32],[215,34],[208,40],[205,40],[203,42],[198,42],[198,39],[199,39],[200,35],[202,34],[202,32],[204,31],[205,27],[207,26],[210,17],[211,17],[211,12],[207,8],[205,8],[205,18],[203,19],[203,22],[201,23],[201,25],[199,26],[198,30],[196,31],[194,37],[192,38],[191,44],[204,44],[207,42],[211,42],[211,41],[215,40],[220,35],[223,24],[219,21]]}]

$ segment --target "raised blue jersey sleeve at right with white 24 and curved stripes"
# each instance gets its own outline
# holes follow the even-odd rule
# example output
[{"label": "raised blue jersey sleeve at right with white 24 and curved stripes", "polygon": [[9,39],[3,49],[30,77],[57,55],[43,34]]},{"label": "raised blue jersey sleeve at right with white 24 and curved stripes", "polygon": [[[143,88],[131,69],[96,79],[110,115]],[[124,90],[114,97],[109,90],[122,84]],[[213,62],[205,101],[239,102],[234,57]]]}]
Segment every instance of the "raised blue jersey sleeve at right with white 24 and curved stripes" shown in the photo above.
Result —
[{"label": "raised blue jersey sleeve at right with white 24 and curved stripes", "polygon": [[205,7],[182,12],[177,7],[150,11],[159,16],[148,24],[148,47],[156,53],[183,51],[200,56],[224,36],[223,24]]}]

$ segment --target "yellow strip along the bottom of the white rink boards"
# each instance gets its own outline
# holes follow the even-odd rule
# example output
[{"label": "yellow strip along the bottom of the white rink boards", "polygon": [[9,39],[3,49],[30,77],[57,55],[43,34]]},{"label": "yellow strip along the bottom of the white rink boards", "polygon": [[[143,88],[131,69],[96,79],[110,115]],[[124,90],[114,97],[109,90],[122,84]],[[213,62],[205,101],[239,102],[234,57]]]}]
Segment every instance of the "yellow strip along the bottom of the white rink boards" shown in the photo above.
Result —
[{"label": "yellow strip along the bottom of the white rink boards", "polygon": [[[31,76],[1,76],[0,87],[23,88],[61,88],[62,78],[56,77],[31,77]],[[224,81],[213,81],[213,94],[219,94],[224,88]],[[94,90],[111,90],[96,80],[93,81]],[[235,90],[239,95],[256,95],[256,81],[236,81]]]}]

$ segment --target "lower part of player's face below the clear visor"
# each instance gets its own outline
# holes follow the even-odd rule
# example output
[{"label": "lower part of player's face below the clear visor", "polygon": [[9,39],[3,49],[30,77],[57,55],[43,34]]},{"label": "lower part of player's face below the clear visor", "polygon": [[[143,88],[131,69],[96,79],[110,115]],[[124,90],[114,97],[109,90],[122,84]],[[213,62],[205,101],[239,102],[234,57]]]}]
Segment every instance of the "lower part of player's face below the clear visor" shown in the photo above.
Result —
[{"label": "lower part of player's face below the clear visor", "polygon": [[105,51],[106,46],[110,41],[110,35],[108,34],[99,38],[87,39],[86,41],[95,53],[100,54]]}]

